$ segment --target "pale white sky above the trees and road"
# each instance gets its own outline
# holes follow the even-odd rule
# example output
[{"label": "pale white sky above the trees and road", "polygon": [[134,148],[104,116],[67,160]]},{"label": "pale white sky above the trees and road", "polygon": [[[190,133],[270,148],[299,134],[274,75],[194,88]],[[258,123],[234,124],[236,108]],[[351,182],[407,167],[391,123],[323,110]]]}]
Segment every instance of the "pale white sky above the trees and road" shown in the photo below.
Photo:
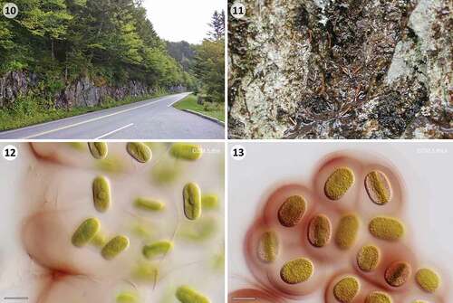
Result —
[{"label": "pale white sky above the trees and road", "polygon": [[160,38],[201,43],[212,14],[225,9],[226,0],[144,0],[143,5]]}]

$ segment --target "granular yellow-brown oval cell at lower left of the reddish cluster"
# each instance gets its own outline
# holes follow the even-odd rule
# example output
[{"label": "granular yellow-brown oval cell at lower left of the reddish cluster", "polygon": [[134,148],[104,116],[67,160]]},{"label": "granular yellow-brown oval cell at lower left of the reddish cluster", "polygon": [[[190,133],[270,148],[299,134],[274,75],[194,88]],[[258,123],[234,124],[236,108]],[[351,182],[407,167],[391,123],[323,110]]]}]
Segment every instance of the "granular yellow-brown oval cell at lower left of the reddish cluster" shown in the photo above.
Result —
[{"label": "granular yellow-brown oval cell at lower left of the reddish cluster", "polygon": [[298,284],[313,275],[313,262],[305,258],[290,260],[280,270],[280,278],[287,284]]}]

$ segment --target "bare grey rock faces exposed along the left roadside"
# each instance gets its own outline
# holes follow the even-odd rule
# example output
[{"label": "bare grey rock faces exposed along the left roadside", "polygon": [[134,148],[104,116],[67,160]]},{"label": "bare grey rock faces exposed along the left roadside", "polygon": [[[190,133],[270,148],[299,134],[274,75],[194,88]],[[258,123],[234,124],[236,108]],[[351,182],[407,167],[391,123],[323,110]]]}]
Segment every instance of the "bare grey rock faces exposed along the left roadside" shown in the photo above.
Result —
[{"label": "bare grey rock faces exposed along the left roadside", "polygon": [[[13,103],[18,96],[24,96],[32,90],[38,91],[39,77],[34,73],[23,71],[7,72],[0,76],[0,108]],[[182,92],[184,87],[169,88],[171,92]],[[56,108],[93,107],[101,104],[107,98],[120,100],[126,97],[140,97],[151,95],[152,88],[140,81],[130,81],[127,85],[116,87],[96,85],[89,78],[82,78],[70,83],[61,92],[54,96]]]}]

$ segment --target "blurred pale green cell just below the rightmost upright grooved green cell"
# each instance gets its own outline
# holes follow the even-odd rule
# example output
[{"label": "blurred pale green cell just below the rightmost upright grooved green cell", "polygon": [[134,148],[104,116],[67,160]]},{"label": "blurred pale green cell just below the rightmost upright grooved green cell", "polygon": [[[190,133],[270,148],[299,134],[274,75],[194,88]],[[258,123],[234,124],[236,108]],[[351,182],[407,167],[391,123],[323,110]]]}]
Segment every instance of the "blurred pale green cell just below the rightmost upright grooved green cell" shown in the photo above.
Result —
[{"label": "blurred pale green cell just below the rightmost upright grooved green cell", "polygon": [[178,237],[188,241],[207,241],[216,234],[217,230],[216,218],[202,217],[197,221],[183,223],[178,231]]}]

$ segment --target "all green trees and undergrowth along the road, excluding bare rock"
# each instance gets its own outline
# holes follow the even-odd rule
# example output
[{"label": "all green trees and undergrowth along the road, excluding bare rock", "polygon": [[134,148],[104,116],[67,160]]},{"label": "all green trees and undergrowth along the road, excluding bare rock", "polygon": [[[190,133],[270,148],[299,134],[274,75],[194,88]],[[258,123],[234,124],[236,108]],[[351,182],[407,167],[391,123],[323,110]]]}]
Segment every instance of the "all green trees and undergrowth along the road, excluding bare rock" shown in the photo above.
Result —
[{"label": "all green trees and undergrowth along the road, excluding bare rock", "polygon": [[[208,102],[223,102],[223,22],[222,29],[218,28],[223,31],[221,37],[210,36],[200,45],[185,43],[190,54],[178,60],[170,50],[171,43],[154,31],[142,1],[14,2],[20,14],[14,20],[0,18],[0,82],[8,83],[5,75],[17,71],[33,75],[34,83],[0,87],[0,130],[149,99],[175,88],[206,94]],[[4,3],[0,0],[0,5]],[[215,15],[213,28],[225,18]],[[106,96],[91,107],[56,101],[81,79],[111,88],[140,82],[152,96]]]}]

